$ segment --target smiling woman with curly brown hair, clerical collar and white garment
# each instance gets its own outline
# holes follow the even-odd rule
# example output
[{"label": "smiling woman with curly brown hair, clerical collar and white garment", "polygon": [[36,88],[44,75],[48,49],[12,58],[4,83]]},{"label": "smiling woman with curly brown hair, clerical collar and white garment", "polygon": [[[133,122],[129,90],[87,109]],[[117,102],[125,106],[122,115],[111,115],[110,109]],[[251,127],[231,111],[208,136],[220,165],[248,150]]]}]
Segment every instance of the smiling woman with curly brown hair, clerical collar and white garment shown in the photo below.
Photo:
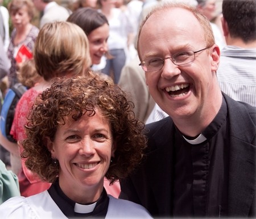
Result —
[{"label": "smiling woman with curly brown hair, clerical collar and white garment", "polygon": [[9,199],[0,206],[2,218],[151,218],[103,186],[104,176],[112,183],[126,177],[146,145],[143,123],[117,85],[93,74],[57,81],[36,99],[28,120],[22,157],[52,186]]}]

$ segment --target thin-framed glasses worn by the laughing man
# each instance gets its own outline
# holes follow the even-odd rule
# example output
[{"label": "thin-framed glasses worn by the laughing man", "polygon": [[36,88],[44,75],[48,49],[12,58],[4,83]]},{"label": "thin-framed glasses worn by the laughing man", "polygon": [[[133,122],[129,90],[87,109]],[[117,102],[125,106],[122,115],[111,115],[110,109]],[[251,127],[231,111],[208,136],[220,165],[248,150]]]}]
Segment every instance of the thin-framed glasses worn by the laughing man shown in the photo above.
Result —
[{"label": "thin-framed glasses worn by the laughing man", "polygon": [[164,66],[164,61],[166,59],[171,59],[172,63],[175,65],[185,65],[188,63],[191,63],[193,60],[195,60],[195,53],[201,52],[205,49],[208,49],[210,47],[206,47],[203,49],[200,49],[199,51],[192,51],[192,50],[187,50],[187,51],[181,51],[174,53],[171,57],[166,57],[166,58],[161,58],[161,57],[155,57],[152,59],[146,59],[142,61],[139,65],[141,65],[143,71],[145,72],[152,72],[152,71],[158,71]]}]

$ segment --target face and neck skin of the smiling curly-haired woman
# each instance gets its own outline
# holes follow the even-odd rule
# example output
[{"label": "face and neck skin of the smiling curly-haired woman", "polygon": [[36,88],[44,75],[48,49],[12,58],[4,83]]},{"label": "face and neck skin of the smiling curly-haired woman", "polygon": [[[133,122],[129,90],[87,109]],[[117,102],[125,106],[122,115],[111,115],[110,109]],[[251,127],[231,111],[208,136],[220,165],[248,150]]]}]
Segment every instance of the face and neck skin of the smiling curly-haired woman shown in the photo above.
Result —
[{"label": "face and neck skin of the smiling curly-haired woman", "polygon": [[104,176],[114,156],[110,124],[96,110],[93,117],[83,115],[78,121],[65,118],[55,140],[48,139],[52,158],[59,160],[59,184],[76,203],[96,201],[103,189]]}]

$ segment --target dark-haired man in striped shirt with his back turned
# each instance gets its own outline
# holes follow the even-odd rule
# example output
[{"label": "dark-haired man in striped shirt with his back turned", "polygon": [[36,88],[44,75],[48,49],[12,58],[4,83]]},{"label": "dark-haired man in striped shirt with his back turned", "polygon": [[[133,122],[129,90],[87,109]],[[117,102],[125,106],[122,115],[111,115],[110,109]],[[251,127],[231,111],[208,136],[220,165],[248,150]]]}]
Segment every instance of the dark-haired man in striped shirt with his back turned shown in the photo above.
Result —
[{"label": "dark-haired man in striped shirt with his back turned", "polygon": [[218,82],[234,100],[256,106],[256,1],[224,0],[222,13],[228,46],[221,51]]}]

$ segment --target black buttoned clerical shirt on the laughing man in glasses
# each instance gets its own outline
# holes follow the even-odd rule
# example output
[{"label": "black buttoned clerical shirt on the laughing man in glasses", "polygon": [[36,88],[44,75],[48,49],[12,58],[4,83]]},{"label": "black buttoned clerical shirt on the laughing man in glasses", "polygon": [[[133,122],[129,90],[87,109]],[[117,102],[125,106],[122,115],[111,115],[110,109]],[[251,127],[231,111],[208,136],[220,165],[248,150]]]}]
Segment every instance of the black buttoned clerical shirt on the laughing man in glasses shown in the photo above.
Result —
[{"label": "black buttoned clerical shirt on the laughing man in glasses", "polygon": [[176,129],[174,217],[228,214],[229,130],[223,98],[216,118],[203,131],[206,141],[191,144]]}]

